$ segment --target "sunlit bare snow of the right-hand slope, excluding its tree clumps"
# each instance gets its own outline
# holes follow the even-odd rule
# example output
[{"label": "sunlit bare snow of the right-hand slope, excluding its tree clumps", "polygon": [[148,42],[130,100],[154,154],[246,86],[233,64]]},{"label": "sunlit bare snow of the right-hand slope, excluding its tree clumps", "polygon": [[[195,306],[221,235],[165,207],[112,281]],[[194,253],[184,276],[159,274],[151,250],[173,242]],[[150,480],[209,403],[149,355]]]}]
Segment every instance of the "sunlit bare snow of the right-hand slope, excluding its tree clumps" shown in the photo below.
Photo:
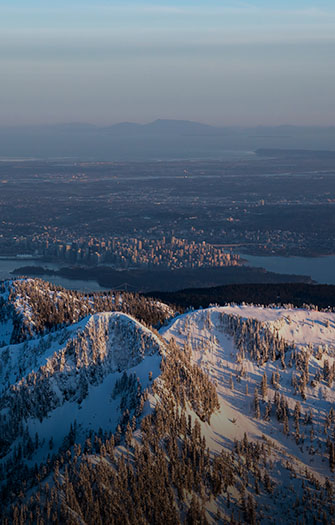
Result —
[{"label": "sunlit bare snow of the right-hand slope, excluding its tree clumps", "polygon": [[[290,343],[283,368],[280,358],[269,358],[257,363],[248,352],[244,357],[238,351],[234,337],[227,329],[227,317],[242,320],[257,319],[261,327],[278,334]],[[334,383],[324,378],[325,366],[331,369],[335,360],[335,314],[302,309],[262,308],[254,306],[213,307],[190,312],[178,317],[169,327],[161,330],[169,341],[192,349],[193,362],[197,363],[217,386],[220,412],[213,415],[211,425],[203,425],[207,443],[215,453],[222,447],[232,449],[234,439],[271,439],[285,461],[303,471],[305,465],[320,478],[334,481],[329,468],[327,439],[335,430],[334,417],[329,413],[334,407]],[[305,399],[293,387],[294,378],[300,377],[299,363],[308,354],[309,377]],[[325,362],[328,365],[325,365]],[[328,369],[328,368],[327,368]],[[267,378],[267,393],[261,395],[263,375]],[[273,374],[275,384],[271,384]],[[320,377],[318,378],[318,375]],[[318,379],[315,380],[315,377]],[[278,379],[278,380],[277,380]],[[255,388],[259,392],[260,415],[255,415]],[[283,421],[276,416],[275,395],[284,395],[288,405],[289,430],[284,433]],[[300,434],[296,438],[294,409],[301,405]],[[266,405],[271,405],[269,417]],[[311,424],[307,415],[311,414]],[[306,422],[307,420],[307,422]]]}]

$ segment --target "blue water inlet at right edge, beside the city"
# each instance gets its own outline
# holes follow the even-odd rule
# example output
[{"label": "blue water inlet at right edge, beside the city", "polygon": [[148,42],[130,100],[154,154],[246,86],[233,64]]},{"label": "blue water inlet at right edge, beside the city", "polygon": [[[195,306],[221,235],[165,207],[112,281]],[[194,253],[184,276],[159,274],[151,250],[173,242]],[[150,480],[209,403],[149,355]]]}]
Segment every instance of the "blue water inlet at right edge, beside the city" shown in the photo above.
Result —
[{"label": "blue water inlet at right edge, beside the city", "polygon": [[261,257],[240,254],[247,264],[269,272],[309,275],[320,284],[335,284],[335,255],[324,257]]}]

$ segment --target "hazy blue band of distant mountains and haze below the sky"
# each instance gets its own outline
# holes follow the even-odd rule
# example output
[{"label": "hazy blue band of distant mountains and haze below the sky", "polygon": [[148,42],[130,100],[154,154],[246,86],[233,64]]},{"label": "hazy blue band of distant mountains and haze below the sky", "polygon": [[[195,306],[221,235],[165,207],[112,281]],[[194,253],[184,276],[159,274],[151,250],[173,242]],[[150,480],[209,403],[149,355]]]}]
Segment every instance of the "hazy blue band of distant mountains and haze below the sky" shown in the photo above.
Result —
[{"label": "hazy blue band of distant mountains and haze below the sky", "polygon": [[110,126],[0,126],[0,157],[90,160],[227,159],[257,149],[334,150],[335,127],[210,126],[158,119]]}]

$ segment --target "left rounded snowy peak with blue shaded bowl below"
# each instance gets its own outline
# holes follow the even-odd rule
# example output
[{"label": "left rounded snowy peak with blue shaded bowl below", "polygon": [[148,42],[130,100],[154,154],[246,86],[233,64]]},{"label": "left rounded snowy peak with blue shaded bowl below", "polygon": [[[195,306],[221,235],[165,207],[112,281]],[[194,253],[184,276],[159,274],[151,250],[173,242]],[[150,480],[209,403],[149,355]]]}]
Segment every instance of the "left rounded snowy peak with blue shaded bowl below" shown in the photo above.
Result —
[{"label": "left rounded snowy peak with blue shaded bowl below", "polygon": [[90,429],[114,432],[125,409],[128,418],[139,413],[143,392],[159,374],[163,346],[138,321],[112,312],[1,349],[4,460],[28,434],[39,435],[29,461],[42,461],[58,450],[71,425],[78,442]]}]

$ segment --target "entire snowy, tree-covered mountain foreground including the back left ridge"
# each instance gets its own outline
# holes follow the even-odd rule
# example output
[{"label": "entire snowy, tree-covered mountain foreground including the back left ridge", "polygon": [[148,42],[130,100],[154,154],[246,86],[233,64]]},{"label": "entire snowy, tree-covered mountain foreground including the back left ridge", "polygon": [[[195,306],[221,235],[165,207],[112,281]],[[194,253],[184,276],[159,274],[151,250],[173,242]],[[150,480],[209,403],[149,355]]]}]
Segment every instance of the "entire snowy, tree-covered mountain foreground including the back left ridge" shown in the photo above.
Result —
[{"label": "entire snowy, tree-covered mountain foreground including the back left ridge", "polygon": [[3,523],[331,522],[335,313],[1,293]]}]

